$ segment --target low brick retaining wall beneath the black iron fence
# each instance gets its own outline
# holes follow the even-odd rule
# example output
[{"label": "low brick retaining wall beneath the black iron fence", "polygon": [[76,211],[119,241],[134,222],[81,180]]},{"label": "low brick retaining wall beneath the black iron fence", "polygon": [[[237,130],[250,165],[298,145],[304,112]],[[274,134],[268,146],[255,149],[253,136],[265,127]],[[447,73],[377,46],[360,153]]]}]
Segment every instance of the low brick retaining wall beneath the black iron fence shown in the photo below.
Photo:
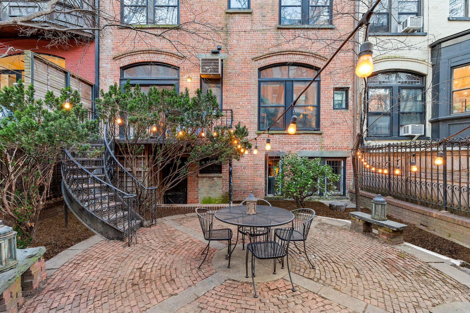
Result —
[{"label": "low brick retaining wall beneath the black iron fence", "polygon": [[[355,202],[354,191],[348,190],[348,192],[351,201]],[[360,191],[360,195],[361,205],[370,208],[370,203],[376,197],[376,194]],[[418,206],[392,197],[384,198],[387,200],[387,215],[414,224],[440,237],[470,248],[470,218],[447,211]]]}]

